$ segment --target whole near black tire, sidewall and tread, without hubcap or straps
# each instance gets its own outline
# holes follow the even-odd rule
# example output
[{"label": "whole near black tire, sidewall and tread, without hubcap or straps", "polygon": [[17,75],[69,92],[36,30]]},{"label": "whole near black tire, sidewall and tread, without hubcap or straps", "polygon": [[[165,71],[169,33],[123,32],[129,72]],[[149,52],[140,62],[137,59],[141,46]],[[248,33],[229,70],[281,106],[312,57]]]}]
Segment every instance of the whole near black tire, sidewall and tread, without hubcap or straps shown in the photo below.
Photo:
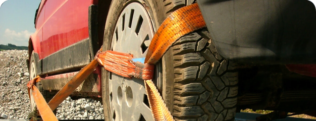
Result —
[{"label": "whole near black tire, sidewall and tread, without hubcap or straps", "polygon": [[[185,2],[183,4],[182,1],[173,0],[112,1],[104,29],[103,50],[112,49],[116,23],[122,9],[129,2],[139,2],[145,6],[155,30],[167,15],[185,6]],[[161,93],[176,120],[234,119],[238,73],[234,71],[235,64],[223,59],[211,45],[213,44],[210,43],[207,31],[201,29],[182,37],[163,57]],[[113,117],[118,115],[112,115],[109,111],[109,108],[113,108],[110,104],[112,98],[109,96],[112,95],[109,92],[109,77],[112,76],[109,75],[109,72],[102,68],[103,112],[105,120],[114,120]]]}]

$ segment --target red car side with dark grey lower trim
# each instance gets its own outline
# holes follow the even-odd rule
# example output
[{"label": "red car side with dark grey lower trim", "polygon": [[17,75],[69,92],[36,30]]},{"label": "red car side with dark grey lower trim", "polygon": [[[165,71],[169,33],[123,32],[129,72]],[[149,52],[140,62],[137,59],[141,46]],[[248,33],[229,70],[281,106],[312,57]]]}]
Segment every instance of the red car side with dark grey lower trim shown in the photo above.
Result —
[{"label": "red car side with dark grey lower trim", "polygon": [[[34,20],[36,31],[29,39],[29,54],[34,51],[37,65],[41,65],[38,66],[38,74],[48,82],[69,81],[94,57],[92,44],[95,48],[100,47],[95,44],[97,39],[92,43],[89,37],[89,11],[95,11],[94,4],[97,1],[41,1]],[[98,77],[97,74],[95,76],[90,77],[92,91],[84,86],[81,93],[94,92],[94,96],[98,95],[100,83],[95,83]],[[62,87],[48,88],[45,84],[47,90],[59,90]]]}]

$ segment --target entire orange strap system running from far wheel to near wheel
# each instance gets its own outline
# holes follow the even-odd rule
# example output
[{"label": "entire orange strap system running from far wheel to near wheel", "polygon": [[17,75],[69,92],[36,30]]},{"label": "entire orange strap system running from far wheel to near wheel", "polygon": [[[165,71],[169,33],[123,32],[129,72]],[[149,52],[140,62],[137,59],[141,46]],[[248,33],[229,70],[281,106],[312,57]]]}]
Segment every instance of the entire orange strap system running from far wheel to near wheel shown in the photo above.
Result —
[{"label": "entire orange strap system running from far wheel to near wheel", "polygon": [[[33,84],[39,80],[36,77],[28,84],[29,96],[30,90],[38,111],[43,120],[57,120],[51,110],[56,109],[83,81],[89,76],[98,64],[102,65],[106,70],[123,77],[140,78],[144,80],[149,106],[155,120],[174,120],[168,110],[163,98],[161,97],[156,86],[151,81],[153,75],[154,64],[165,54],[165,52],[176,42],[181,36],[189,32],[205,27],[205,22],[197,4],[180,8],[173,12],[160,26],[149,45],[146,54],[145,64],[133,62],[133,55],[120,53],[115,51],[102,50],[96,54],[95,59],[85,66],[78,74],[75,75],[55,96],[48,105],[40,92]],[[50,108],[50,109],[49,109]],[[51,115],[52,114],[52,115]],[[53,116],[54,115],[54,116]],[[52,119],[55,117],[54,119]]]}]

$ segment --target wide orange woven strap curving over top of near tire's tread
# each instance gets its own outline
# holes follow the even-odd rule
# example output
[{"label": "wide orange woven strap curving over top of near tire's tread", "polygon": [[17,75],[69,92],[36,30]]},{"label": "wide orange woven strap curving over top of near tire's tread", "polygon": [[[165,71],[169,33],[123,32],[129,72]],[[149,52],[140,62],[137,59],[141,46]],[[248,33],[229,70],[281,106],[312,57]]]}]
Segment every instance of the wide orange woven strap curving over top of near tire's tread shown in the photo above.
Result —
[{"label": "wide orange woven strap curving over top of near tire's tread", "polygon": [[177,39],[202,27],[205,27],[205,22],[197,4],[171,13],[154,34],[145,63],[155,64]]}]

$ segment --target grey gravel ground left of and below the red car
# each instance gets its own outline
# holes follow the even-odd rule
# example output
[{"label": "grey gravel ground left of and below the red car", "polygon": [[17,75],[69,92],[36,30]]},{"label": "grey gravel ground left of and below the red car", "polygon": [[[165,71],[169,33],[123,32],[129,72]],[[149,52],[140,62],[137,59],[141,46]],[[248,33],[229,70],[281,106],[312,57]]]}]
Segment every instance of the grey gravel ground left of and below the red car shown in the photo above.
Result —
[{"label": "grey gravel ground left of and below the red car", "polygon": [[[27,50],[0,51],[0,116],[23,119],[30,113],[26,84],[29,73]],[[101,102],[92,99],[72,100],[68,97],[57,108],[59,119],[103,119]]]}]

